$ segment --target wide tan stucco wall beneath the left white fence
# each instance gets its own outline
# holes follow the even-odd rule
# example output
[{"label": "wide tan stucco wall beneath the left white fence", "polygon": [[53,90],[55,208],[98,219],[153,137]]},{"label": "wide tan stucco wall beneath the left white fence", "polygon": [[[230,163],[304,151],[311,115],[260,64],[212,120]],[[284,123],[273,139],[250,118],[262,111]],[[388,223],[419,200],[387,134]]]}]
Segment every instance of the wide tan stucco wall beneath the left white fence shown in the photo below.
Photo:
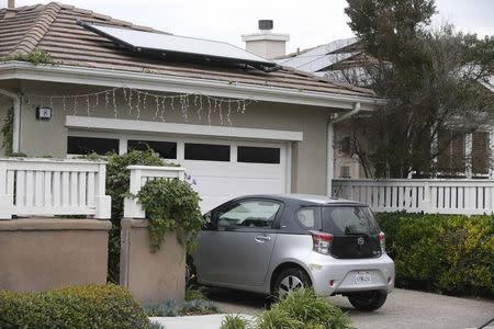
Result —
[{"label": "wide tan stucco wall beneath the left white fence", "polygon": [[104,284],[109,220],[0,220],[0,290]]}]

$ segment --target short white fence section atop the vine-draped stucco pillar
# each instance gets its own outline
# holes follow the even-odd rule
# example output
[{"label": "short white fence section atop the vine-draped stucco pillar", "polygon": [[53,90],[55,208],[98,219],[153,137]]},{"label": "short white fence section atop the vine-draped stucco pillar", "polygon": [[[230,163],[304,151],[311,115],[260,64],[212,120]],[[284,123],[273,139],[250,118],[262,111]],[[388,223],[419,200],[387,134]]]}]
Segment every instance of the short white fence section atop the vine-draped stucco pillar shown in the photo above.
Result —
[{"label": "short white fence section atop the vine-draped stucco pillar", "polygon": [[[151,166],[128,166],[131,170],[130,192],[136,195],[148,180],[156,179],[179,179],[186,178],[186,169],[181,167],[151,167]],[[124,200],[125,218],[146,218],[146,214],[141,204],[135,198]]]}]

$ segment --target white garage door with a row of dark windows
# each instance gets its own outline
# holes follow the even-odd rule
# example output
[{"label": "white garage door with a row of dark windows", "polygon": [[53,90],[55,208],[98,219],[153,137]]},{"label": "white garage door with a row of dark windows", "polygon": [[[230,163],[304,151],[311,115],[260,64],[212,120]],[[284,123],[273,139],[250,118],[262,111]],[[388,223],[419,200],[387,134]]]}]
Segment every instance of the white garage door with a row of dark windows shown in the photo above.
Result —
[{"label": "white garage door with a row of dark windows", "polygon": [[157,137],[105,132],[69,131],[68,154],[126,152],[128,149],[157,151],[179,162],[201,195],[201,209],[246,194],[284,193],[290,189],[289,143],[204,139],[179,136]]}]

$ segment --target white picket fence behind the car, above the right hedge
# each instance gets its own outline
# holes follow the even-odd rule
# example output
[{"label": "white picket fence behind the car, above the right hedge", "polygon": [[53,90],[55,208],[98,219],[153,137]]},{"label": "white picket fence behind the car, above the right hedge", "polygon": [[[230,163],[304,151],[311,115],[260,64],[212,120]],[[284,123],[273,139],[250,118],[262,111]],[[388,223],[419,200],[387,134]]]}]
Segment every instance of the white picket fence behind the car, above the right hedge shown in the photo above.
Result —
[{"label": "white picket fence behind the car, above the right hedge", "polygon": [[494,180],[334,179],[333,195],[369,205],[374,212],[491,214]]}]

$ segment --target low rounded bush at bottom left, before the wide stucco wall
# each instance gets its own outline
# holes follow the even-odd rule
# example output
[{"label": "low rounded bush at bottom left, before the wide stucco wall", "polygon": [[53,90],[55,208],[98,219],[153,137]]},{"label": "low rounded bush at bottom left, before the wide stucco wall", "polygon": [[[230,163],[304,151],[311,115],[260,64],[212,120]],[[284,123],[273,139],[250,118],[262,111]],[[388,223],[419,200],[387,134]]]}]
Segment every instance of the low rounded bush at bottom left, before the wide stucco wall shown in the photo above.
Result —
[{"label": "low rounded bush at bottom left, before the wide stucco wall", "polygon": [[117,285],[41,293],[0,292],[0,328],[149,328],[143,308]]}]

